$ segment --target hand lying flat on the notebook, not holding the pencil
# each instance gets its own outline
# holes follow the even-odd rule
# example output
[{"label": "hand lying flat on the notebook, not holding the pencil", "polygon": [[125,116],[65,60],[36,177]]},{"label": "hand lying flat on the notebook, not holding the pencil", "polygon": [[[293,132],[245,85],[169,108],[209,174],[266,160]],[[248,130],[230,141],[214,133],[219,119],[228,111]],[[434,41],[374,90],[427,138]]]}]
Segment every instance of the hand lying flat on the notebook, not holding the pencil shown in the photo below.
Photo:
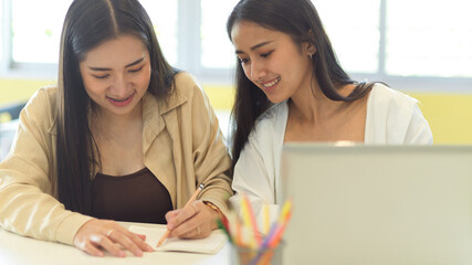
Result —
[{"label": "hand lying flat on the notebook, not holding the pencil", "polygon": [[103,250],[118,257],[126,256],[124,250],[143,256],[143,251],[153,251],[145,239],[146,235],[135,234],[115,221],[93,219],[77,231],[74,245],[93,256],[103,256]]}]

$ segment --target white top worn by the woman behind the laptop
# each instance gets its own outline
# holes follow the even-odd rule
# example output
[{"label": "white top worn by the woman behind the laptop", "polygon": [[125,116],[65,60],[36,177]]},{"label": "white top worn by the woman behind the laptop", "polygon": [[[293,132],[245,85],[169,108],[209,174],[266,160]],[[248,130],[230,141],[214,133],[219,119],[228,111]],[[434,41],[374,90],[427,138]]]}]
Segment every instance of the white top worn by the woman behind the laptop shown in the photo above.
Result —
[{"label": "white top worn by the woman behind the laptop", "polygon": [[[241,193],[247,194],[259,224],[264,203],[269,204],[271,221],[279,214],[277,204],[283,203],[280,168],[287,117],[287,102],[261,115],[234,168],[232,189],[237,194],[230,201],[239,209]],[[367,99],[364,141],[365,145],[431,145],[432,134],[417,99],[376,84]]]}]

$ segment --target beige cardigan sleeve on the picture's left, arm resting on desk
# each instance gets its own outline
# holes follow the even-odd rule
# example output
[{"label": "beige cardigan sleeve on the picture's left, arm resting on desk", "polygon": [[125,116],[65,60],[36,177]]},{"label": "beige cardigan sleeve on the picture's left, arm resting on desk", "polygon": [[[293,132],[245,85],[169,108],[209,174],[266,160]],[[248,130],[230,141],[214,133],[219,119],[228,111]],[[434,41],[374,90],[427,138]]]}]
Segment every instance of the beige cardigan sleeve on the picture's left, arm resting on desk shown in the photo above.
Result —
[{"label": "beige cardigan sleeve on the picture's left, arm resting on desk", "polygon": [[39,89],[20,115],[9,156],[0,163],[0,225],[39,240],[73,243],[91,218],[66,211],[54,197],[51,89]]}]

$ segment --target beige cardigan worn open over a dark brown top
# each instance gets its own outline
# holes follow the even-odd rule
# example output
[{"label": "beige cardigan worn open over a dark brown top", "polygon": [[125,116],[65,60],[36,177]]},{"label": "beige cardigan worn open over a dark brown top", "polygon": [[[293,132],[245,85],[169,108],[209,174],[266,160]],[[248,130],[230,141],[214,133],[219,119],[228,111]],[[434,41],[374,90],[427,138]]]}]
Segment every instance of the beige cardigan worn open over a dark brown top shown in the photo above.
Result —
[{"label": "beige cardigan worn open over a dark brown top", "polygon": [[[143,97],[146,167],[181,208],[201,182],[199,199],[222,212],[232,194],[230,157],[218,119],[203,91],[186,73],[176,76],[168,104]],[[0,225],[40,240],[73,244],[91,216],[64,210],[56,200],[56,87],[40,88],[20,116],[17,138],[0,163]]]}]

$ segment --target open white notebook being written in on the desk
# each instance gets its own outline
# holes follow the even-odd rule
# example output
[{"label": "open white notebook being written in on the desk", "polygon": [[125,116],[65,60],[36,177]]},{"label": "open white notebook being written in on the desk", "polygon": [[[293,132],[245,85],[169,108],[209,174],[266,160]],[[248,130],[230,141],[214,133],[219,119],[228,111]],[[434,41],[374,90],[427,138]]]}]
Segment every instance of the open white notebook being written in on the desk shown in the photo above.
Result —
[{"label": "open white notebook being written in on the desk", "polygon": [[144,227],[138,225],[129,226],[129,231],[137,234],[146,235],[146,243],[154,247],[155,251],[176,251],[176,252],[193,252],[204,254],[216,254],[228,242],[227,236],[219,230],[213,230],[207,239],[202,240],[181,240],[167,239],[159,247],[157,242],[166,232],[166,227]]}]

